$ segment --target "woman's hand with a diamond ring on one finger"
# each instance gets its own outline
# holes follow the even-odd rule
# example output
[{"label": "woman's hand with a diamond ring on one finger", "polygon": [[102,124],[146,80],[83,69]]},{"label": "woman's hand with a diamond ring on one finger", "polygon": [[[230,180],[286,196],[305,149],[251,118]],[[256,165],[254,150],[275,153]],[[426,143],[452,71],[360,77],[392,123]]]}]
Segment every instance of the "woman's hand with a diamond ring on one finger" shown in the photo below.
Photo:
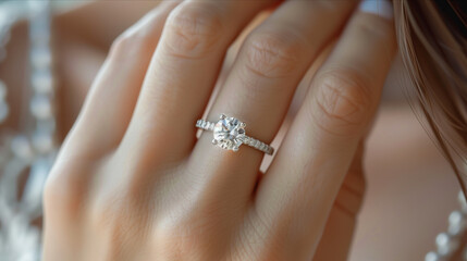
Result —
[{"label": "woman's hand with a diamond ring on one finger", "polygon": [[[283,2],[247,36],[208,113],[270,142],[345,25],[268,171],[258,150],[195,135],[228,48],[273,4],[167,1],[116,39],[47,183],[45,260],[345,258],[356,208],[345,197],[331,210],[361,172],[395,51],[390,20],[353,1]],[[343,238],[325,239],[340,236],[327,223],[347,225]]]}]

